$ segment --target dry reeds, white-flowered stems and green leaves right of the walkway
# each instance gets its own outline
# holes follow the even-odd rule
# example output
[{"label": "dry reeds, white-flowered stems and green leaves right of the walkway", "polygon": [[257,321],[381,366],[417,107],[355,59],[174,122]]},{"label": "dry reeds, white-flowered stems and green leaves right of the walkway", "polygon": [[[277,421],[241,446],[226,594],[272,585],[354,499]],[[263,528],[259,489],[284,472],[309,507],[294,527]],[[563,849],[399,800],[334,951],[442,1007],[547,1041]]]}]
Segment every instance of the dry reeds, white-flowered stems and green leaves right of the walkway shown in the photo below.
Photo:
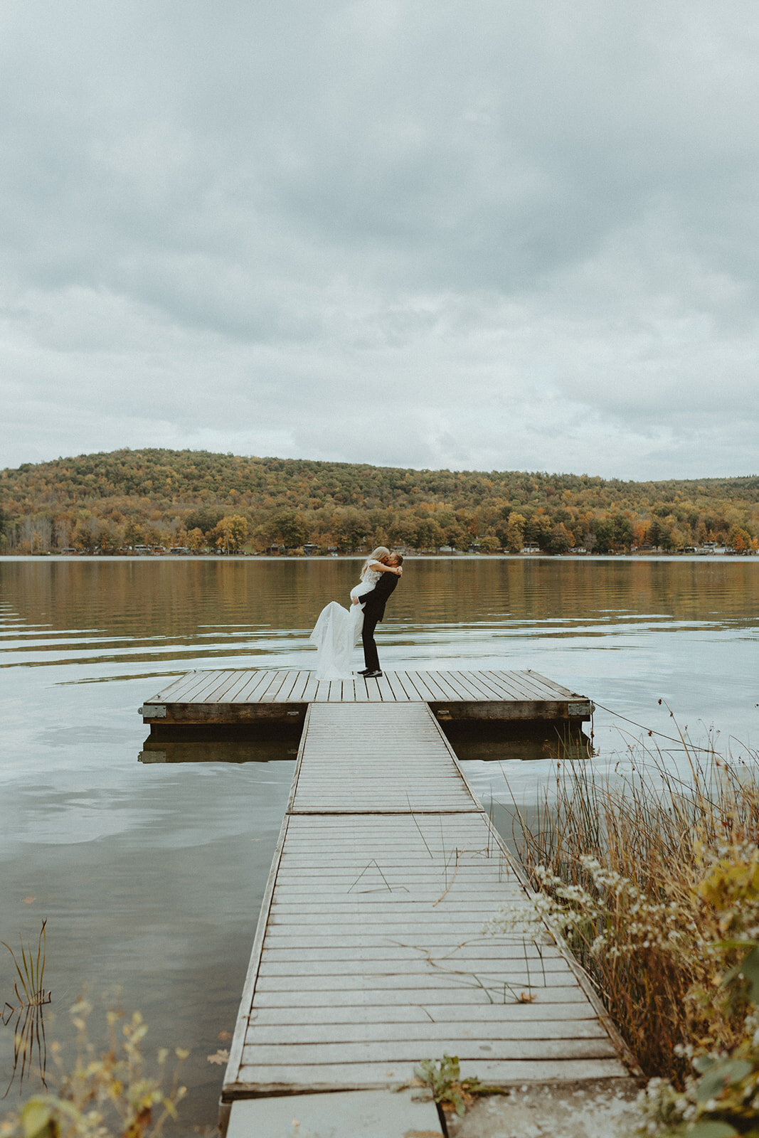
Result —
[{"label": "dry reeds, white-flowered stems and green leaves right of the walkway", "polygon": [[[605,775],[568,747],[537,810],[513,803],[513,836],[535,922],[567,942],[650,1080],[638,1132],[756,1135],[759,752],[726,759],[678,734],[679,765],[646,736]],[[517,920],[504,906],[490,927]]]}]

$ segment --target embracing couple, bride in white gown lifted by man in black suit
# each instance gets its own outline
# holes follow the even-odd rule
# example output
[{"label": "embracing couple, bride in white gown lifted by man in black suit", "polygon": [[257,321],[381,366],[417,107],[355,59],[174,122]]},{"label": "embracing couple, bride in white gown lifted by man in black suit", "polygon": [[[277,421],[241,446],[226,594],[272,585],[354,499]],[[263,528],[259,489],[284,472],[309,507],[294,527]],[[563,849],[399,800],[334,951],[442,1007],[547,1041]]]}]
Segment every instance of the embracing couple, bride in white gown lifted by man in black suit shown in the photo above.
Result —
[{"label": "embracing couple, bride in white gown lifted by man in black suit", "polygon": [[330,601],[322,609],[310,636],[317,649],[317,679],[349,678],[350,658],[358,637],[364,645],[365,663],[360,675],[370,679],[382,675],[374,629],[385,616],[387,599],[403,574],[402,564],[399,553],[390,553],[385,545],[378,545],[364,562],[360,583],[350,589],[350,611],[337,601]]}]

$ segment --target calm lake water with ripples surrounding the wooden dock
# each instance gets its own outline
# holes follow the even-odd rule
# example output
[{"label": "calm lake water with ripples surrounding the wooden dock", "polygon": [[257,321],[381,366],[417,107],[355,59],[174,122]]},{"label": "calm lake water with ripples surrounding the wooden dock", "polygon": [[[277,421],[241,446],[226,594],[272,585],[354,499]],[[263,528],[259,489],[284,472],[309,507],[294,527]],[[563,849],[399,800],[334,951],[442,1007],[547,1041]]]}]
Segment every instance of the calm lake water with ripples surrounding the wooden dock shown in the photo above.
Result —
[{"label": "calm lake water with ripples surrounding the wooden dock", "polygon": [[[182,1133],[215,1121],[223,1067],[206,1056],[233,1028],[295,743],[245,749],[257,761],[222,761],[220,747],[220,761],[145,766],[137,708],[190,668],[313,666],[308,630],[357,567],[0,561],[0,939],[31,939],[48,918],[49,1036],[65,1037],[83,987],[119,986],[154,1046],[192,1049]],[[759,559],[419,560],[380,658],[542,671],[610,709],[595,718],[602,757],[640,734],[618,716],[671,733],[659,698],[737,753],[759,745],[758,618]],[[461,753],[485,798],[505,797],[504,776],[534,798],[550,770],[472,757],[477,743]],[[0,1028],[0,1078],[10,1054]]]}]

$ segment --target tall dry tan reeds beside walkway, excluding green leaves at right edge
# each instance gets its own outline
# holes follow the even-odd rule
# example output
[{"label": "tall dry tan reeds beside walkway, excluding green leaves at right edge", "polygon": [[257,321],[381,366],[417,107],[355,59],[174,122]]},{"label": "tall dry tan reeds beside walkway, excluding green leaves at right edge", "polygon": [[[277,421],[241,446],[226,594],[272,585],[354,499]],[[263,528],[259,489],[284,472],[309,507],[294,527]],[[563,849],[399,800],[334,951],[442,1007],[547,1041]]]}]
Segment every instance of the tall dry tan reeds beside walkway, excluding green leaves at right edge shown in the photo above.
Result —
[{"label": "tall dry tan reeds beside walkway, excluding green leaves at right edge", "polygon": [[647,739],[607,775],[566,753],[535,817],[514,803],[513,830],[537,890],[576,887],[599,902],[569,943],[644,1073],[679,1082],[678,1045],[729,1049],[742,1031],[741,1008],[718,998],[732,958],[703,882],[720,858],[759,847],[759,759],[694,750],[675,729],[685,777]]}]

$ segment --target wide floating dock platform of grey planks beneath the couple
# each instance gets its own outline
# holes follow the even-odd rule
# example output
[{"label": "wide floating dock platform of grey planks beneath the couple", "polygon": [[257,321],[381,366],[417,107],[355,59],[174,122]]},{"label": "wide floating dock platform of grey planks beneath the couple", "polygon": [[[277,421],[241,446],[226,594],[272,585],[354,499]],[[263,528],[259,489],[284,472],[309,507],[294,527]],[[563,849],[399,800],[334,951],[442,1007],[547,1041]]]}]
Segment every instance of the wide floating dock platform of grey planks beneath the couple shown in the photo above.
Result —
[{"label": "wide floating dock platform of grey planks beneath the couple", "polygon": [[267,668],[190,671],[146,700],[149,724],[237,724],[305,715],[310,703],[427,703],[468,719],[581,723],[593,704],[537,671],[386,671],[378,679],[319,681],[313,671]]}]

